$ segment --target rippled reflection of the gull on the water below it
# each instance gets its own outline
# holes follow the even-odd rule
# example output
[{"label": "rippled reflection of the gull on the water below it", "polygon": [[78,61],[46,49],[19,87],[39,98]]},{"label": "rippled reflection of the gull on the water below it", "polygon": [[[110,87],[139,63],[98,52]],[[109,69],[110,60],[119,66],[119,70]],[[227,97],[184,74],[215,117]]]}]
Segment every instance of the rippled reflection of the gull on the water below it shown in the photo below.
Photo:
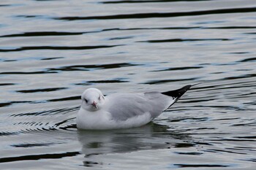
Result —
[{"label": "rippled reflection of the gull on the water below it", "polygon": [[133,152],[175,147],[189,136],[173,134],[167,126],[149,123],[140,128],[111,131],[78,131],[78,140],[86,157],[116,152]]}]

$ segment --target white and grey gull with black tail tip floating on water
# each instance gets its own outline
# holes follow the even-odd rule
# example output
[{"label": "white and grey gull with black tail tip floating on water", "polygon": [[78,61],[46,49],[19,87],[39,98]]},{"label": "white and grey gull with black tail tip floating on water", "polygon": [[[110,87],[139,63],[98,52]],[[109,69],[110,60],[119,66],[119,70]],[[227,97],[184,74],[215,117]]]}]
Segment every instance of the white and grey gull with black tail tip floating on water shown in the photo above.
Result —
[{"label": "white and grey gull with black tail tip floating on water", "polygon": [[192,86],[162,93],[113,93],[109,96],[104,96],[97,88],[88,88],[81,96],[77,127],[108,130],[146,125],[176,103]]}]

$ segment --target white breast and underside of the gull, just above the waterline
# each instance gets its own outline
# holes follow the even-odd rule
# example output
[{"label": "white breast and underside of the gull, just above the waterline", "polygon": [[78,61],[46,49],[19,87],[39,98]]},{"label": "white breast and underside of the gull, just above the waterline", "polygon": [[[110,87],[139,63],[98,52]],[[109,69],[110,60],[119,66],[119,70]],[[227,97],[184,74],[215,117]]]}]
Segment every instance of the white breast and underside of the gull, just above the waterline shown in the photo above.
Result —
[{"label": "white breast and underside of the gull, just above the waterline", "polygon": [[131,117],[127,120],[113,120],[110,113],[106,111],[87,112],[80,108],[76,123],[78,128],[82,129],[115,129],[115,128],[134,128],[141,125],[146,125],[152,120],[149,112],[143,115]]}]

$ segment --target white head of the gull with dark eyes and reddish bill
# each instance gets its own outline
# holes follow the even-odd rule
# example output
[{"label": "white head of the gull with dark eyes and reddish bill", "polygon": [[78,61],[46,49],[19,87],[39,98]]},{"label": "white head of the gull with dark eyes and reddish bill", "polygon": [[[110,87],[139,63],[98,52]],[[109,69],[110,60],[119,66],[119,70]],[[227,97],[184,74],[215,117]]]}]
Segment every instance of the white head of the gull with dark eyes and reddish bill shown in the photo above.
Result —
[{"label": "white head of the gull with dark eyes and reddish bill", "polygon": [[105,97],[102,95],[102,92],[97,88],[86,89],[83,92],[81,98],[81,107],[91,112],[101,109],[103,104],[105,103]]}]

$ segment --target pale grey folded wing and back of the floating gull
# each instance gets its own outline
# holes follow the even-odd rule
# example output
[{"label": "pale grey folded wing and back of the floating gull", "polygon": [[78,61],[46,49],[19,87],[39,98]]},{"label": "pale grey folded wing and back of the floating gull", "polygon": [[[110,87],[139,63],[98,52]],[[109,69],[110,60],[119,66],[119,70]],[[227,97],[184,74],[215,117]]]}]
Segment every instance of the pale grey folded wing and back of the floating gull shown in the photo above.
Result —
[{"label": "pale grey folded wing and back of the floating gull", "polygon": [[167,109],[173,98],[158,92],[136,94],[114,94],[108,96],[108,112],[113,120],[127,120],[146,113],[152,119]]}]

